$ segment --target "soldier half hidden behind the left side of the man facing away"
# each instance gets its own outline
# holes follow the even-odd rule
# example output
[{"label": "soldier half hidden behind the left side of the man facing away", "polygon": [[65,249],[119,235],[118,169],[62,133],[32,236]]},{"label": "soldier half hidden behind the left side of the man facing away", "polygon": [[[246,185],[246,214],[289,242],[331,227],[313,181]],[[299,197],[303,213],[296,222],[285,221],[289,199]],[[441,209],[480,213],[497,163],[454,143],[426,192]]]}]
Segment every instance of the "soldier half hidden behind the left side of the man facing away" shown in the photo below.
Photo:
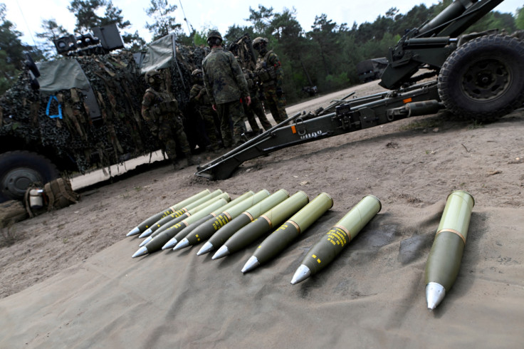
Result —
[{"label": "soldier half hidden behind the left side of the man facing away", "polygon": [[192,103],[195,110],[200,114],[206,127],[206,135],[211,143],[211,149],[214,152],[217,152],[220,145],[219,140],[216,137],[216,127],[214,123],[215,111],[213,110],[211,100],[206,93],[206,88],[204,87],[204,75],[202,75],[201,69],[195,69],[192,72],[192,76],[194,84],[189,91],[189,103]]}]

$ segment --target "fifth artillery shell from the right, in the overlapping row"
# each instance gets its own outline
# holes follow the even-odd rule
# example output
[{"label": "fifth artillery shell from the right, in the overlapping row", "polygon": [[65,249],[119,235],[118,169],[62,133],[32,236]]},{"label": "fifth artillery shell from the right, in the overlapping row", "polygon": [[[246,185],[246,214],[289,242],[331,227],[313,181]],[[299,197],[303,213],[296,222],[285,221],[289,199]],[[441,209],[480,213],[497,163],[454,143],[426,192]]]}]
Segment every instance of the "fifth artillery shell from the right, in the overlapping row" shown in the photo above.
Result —
[{"label": "fifth artillery shell from the right, in the overlapping row", "polygon": [[236,217],[226,226],[223,226],[219,231],[216,231],[216,233],[206,241],[206,244],[202,246],[197,254],[200,256],[201,254],[206,254],[213,249],[218,249],[227,239],[233,236],[236,231],[239,231],[243,226],[253,222],[253,219],[257,219],[261,214],[280,204],[288,197],[288,192],[284,189],[280,189],[269,197],[266,197],[266,199],[263,199],[261,202],[258,202],[258,204],[253,205],[253,207],[246,209],[246,212],[242,212],[239,217]]}]

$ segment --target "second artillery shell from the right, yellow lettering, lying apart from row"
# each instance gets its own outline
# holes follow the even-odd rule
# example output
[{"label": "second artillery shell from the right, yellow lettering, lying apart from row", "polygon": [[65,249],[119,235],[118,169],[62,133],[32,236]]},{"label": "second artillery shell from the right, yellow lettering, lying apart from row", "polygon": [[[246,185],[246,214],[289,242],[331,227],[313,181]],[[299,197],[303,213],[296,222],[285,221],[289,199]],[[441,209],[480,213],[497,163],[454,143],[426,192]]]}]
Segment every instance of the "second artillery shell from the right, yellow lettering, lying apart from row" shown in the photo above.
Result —
[{"label": "second artillery shell from the right, yellow lettering, lying apart from row", "polygon": [[295,271],[291,283],[304,281],[310,275],[316,274],[327,264],[330,264],[340,254],[347,244],[370,222],[380,211],[382,204],[377,197],[367,195],[350,212],[340,219],[330,231],[327,231],[320,241],[315,244],[304,257],[304,260]]}]

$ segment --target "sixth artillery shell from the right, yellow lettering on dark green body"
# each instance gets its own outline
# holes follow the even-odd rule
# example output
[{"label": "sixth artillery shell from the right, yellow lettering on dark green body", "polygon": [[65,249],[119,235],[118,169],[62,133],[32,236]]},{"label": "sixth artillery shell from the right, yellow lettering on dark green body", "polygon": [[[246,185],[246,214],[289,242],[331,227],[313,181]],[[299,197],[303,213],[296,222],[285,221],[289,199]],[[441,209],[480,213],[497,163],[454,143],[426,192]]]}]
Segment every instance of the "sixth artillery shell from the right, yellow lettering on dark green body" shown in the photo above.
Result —
[{"label": "sixth artillery shell from the right, yellow lettering on dark green body", "polygon": [[[260,192],[254,194],[252,197],[243,199],[241,202],[236,204],[234,207],[225,209],[219,215],[214,217],[214,219],[209,219],[208,222],[201,224],[198,228],[194,229],[191,234],[188,234],[179,242],[178,246],[180,248],[192,246],[194,244],[199,244],[201,241],[209,239],[216,231],[221,229],[222,226],[231,222],[231,219],[234,219],[239,216],[243,211],[252,207],[254,204],[261,202],[263,199],[269,196],[269,192],[266,189],[261,190]],[[187,240],[187,241],[186,241]],[[187,242],[187,244],[185,244]],[[183,247],[182,247],[183,246]]]}]

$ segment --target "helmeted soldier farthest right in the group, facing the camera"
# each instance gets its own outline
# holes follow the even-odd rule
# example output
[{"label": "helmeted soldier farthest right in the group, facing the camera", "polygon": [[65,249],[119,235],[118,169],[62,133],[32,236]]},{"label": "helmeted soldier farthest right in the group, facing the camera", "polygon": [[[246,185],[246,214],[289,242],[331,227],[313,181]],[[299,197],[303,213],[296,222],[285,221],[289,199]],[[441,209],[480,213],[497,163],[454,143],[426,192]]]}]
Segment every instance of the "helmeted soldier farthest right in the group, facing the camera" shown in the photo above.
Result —
[{"label": "helmeted soldier farthest right in the group, facing the camera", "polygon": [[271,111],[273,119],[281,123],[288,118],[285,113],[285,96],[282,90],[284,72],[281,61],[273,50],[268,51],[268,39],[258,37],[253,40],[253,48],[258,52],[255,73],[260,79],[264,92],[264,105]]}]

